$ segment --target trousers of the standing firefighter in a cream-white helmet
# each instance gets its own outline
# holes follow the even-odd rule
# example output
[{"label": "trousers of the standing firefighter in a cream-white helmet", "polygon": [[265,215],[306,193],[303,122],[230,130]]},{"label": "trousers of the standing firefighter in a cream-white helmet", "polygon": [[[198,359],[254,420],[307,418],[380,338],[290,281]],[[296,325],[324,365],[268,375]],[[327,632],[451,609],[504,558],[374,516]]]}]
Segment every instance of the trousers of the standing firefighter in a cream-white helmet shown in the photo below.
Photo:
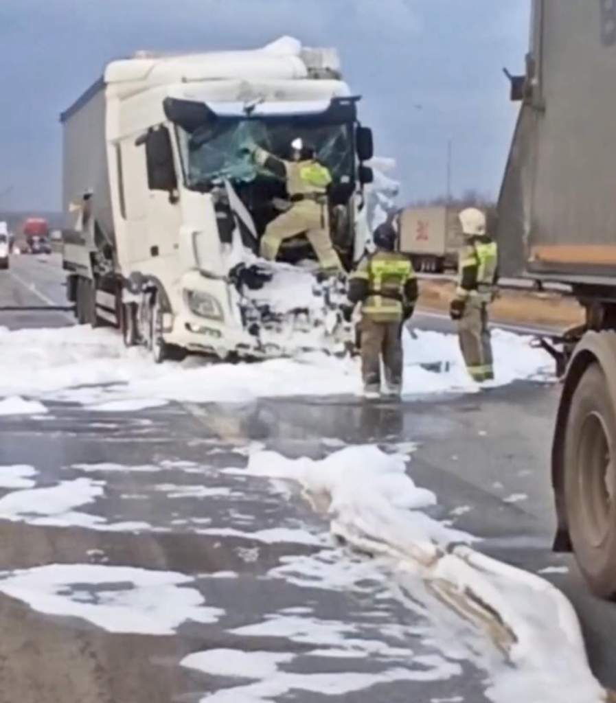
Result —
[{"label": "trousers of the standing firefighter in a cream-white helmet", "polygon": [[488,322],[487,303],[468,299],[462,318],[458,322],[458,335],[468,373],[477,382],[494,378],[492,340]]}]

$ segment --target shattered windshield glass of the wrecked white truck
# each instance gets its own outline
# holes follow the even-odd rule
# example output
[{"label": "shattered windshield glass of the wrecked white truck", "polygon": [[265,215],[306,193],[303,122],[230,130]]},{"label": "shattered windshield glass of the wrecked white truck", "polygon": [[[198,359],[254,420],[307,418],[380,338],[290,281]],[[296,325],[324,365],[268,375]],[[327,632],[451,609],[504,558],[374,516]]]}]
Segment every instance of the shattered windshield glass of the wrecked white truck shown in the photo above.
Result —
[{"label": "shattered windshield glass of the wrecked white truck", "polygon": [[293,124],[288,120],[217,120],[184,132],[182,150],[186,184],[199,188],[215,181],[254,181],[257,176],[279,178],[255,164],[246,150],[257,144],[270,153],[290,157],[290,145],[301,137],[316,149],[317,157],[333,179],[350,182],[354,169],[351,124]]}]

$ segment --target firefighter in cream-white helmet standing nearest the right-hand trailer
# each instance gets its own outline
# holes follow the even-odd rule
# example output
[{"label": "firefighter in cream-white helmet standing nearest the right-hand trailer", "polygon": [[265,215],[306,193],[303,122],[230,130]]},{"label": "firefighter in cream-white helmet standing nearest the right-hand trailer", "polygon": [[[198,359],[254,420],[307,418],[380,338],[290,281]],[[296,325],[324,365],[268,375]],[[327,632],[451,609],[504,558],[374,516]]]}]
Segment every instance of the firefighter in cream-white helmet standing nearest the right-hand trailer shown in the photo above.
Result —
[{"label": "firefighter in cream-white helmet standing nearest the right-hand trailer", "polygon": [[494,379],[488,305],[498,282],[496,242],[487,234],[483,212],[470,207],[459,214],[465,238],[460,252],[458,288],[451,301],[451,319],[458,323],[460,347],[468,373],[477,382]]}]

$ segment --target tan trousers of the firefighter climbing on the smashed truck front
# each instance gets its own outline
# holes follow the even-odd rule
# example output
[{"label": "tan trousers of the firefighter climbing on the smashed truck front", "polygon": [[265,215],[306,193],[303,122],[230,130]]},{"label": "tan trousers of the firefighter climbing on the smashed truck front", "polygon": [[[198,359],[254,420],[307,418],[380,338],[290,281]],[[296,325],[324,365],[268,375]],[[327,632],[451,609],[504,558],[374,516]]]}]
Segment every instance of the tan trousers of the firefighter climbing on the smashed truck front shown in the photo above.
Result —
[{"label": "tan trousers of the firefighter climbing on the smashed truck front", "polygon": [[342,269],[340,258],[329,236],[327,217],[322,205],[300,202],[272,220],[261,240],[261,256],[276,261],[281,244],[305,233],[322,269]]}]

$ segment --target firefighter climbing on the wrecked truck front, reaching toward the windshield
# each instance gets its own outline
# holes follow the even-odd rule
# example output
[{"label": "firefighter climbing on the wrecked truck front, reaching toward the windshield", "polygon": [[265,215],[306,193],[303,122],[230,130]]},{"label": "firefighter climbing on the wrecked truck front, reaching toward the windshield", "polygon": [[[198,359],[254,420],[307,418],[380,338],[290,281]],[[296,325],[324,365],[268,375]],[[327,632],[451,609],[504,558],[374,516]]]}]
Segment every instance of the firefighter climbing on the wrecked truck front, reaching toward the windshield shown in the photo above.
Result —
[{"label": "firefighter climbing on the wrecked truck front, reaching toward the windshield", "polygon": [[251,148],[259,166],[285,179],[290,207],[272,220],[261,240],[261,256],[275,261],[283,241],[305,233],[323,271],[342,271],[329,232],[327,189],[332,182],[326,166],[316,160],[315,150],[297,138],[291,144],[293,157],[285,161],[259,146]]}]

